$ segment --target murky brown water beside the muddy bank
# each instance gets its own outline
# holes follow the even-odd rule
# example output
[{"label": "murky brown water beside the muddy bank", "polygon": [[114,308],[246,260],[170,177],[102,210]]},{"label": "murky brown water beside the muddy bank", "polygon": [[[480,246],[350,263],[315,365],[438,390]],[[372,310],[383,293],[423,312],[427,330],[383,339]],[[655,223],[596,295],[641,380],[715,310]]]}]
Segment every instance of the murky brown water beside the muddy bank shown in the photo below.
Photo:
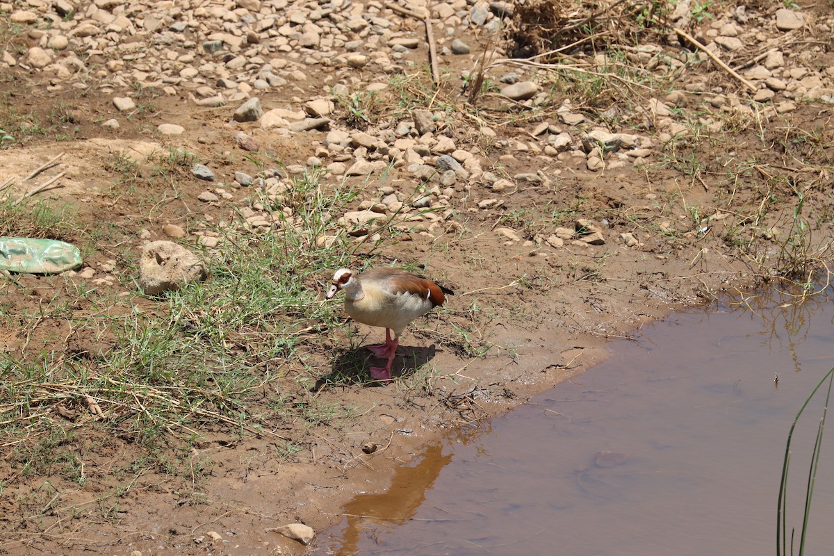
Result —
[{"label": "murky brown water beside the muddy bank", "polygon": [[[774,553],[786,436],[834,365],[834,304],[768,295],[648,325],[572,382],[430,445],[387,492],[354,498],[319,553]],[[821,401],[797,425],[789,528]],[[808,553],[834,546],[824,440]]]}]

